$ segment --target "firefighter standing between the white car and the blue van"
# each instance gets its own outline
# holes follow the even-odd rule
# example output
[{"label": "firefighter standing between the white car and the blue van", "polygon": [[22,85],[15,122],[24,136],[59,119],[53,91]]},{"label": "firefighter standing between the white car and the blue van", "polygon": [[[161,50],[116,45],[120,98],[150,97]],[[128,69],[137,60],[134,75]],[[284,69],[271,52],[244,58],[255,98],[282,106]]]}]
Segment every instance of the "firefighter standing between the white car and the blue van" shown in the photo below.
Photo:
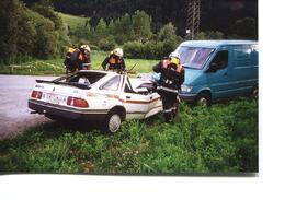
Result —
[{"label": "firefighter standing between the white car and the blue van", "polygon": [[168,59],[153,67],[153,71],[160,73],[157,90],[162,98],[164,119],[172,122],[178,115],[178,92],[184,82],[184,69],[180,63],[179,52],[171,52]]}]

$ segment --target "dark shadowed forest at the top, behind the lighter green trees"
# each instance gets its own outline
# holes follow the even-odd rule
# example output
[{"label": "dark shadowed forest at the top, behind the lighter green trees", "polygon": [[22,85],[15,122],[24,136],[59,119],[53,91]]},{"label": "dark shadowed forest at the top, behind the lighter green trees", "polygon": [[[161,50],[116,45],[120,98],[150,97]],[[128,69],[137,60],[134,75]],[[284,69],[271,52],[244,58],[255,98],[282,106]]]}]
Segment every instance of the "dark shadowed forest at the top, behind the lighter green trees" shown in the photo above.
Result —
[{"label": "dark shadowed forest at the top, behind the lighter green trees", "polygon": [[[32,0],[31,0],[32,1]],[[92,16],[92,24],[101,17],[107,22],[125,13],[143,10],[153,19],[152,30],[159,31],[172,22],[178,35],[184,36],[189,0],[53,0],[58,11]],[[202,0],[201,30],[219,31],[226,36],[237,20],[258,21],[258,0]],[[257,27],[255,27],[257,32]]]}]

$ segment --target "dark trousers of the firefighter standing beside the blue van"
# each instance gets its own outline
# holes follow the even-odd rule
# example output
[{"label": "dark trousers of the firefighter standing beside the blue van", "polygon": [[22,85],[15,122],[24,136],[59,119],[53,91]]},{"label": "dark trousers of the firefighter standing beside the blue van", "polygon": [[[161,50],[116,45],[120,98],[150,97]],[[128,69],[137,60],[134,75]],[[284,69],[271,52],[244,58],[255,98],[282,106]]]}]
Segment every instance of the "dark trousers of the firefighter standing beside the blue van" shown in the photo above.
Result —
[{"label": "dark trousers of the firefighter standing beside the blue van", "polygon": [[167,122],[172,122],[178,115],[179,102],[177,101],[177,93],[160,91],[162,98],[163,115]]}]

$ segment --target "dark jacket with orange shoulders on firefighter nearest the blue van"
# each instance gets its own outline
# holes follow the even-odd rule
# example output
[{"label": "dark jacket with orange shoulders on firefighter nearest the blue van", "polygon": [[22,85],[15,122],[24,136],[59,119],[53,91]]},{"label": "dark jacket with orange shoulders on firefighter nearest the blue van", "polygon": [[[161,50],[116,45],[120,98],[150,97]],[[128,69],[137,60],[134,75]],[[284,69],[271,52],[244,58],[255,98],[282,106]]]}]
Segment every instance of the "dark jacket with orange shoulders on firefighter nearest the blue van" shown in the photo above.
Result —
[{"label": "dark jacket with orange shoulders on firefighter nearest the blue van", "polygon": [[159,90],[178,93],[184,82],[184,69],[181,64],[162,60],[153,67],[153,71],[160,73]]}]

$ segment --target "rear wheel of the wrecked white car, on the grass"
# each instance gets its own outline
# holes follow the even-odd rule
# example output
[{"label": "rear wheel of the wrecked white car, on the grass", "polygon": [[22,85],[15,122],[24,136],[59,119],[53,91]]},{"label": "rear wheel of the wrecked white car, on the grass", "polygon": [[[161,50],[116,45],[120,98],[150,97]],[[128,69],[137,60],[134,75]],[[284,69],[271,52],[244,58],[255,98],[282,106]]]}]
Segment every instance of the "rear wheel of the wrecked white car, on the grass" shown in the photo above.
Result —
[{"label": "rear wheel of the wrecked white car, on the grass", "polygon": [[122,125],[122,116],[118,111],[112,110],[105,119],[105,130],[110,133],[115,133]]}]

